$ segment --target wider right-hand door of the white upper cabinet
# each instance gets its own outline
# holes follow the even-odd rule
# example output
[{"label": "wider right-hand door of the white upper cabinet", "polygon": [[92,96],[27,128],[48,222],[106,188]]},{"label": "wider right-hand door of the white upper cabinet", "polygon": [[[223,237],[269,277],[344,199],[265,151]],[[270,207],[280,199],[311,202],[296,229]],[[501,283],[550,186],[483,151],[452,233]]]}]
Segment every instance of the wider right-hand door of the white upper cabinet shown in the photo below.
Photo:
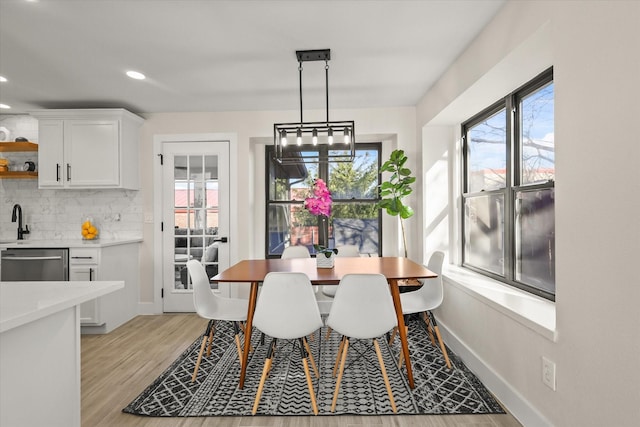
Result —
[{"label": "wider right-hand door of the white upper cabinet", "polygon": [[64,134],[64,168],[69,187],[120,185],[118,121],[66,120]]}]

